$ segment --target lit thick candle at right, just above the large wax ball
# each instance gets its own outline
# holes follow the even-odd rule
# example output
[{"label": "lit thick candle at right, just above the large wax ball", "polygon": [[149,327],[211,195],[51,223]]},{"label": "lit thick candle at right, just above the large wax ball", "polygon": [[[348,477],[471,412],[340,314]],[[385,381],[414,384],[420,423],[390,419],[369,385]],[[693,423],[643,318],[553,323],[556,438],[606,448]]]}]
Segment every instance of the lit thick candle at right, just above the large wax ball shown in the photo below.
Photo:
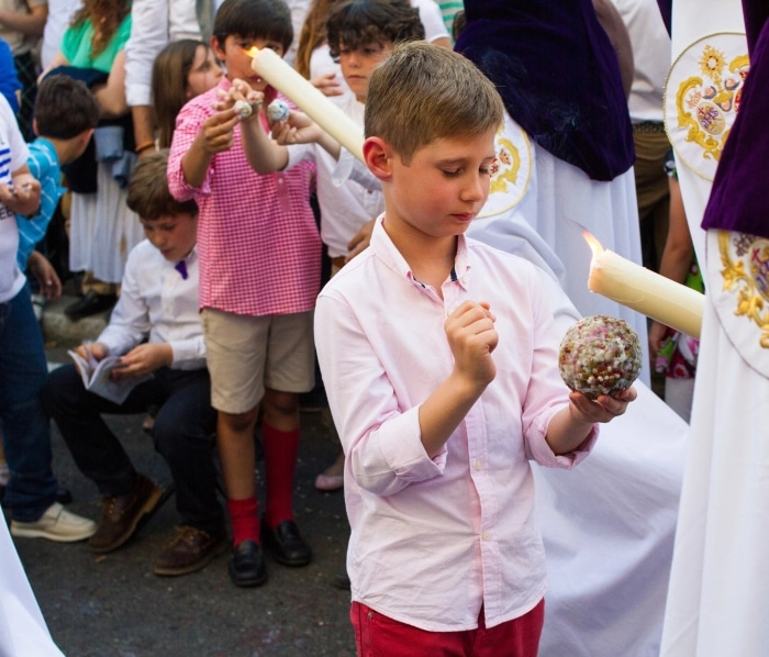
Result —
[{"label": "lit thick candle at right, just above the large wax ball", "polygon": [[603,249],[592,235],[584,237],[593,252],[588,278],[591,291],[676,331],[700,337],[703,294]]}]

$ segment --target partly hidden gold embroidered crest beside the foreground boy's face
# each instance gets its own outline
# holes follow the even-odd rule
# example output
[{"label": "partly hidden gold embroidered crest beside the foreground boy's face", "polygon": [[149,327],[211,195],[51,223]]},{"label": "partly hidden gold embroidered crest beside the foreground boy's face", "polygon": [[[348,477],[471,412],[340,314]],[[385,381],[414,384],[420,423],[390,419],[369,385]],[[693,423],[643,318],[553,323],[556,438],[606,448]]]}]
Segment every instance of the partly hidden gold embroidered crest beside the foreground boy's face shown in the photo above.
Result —
[{"label": "partly hidden gold embroidered crest beside the foreground boy's face", "polygon": [[532,151],[523,129],[505,114],[504,124],[494,137],[497,157],[491,164],[489,199],[479,218],[491,216],[517,205],[528,189],[532,176]]}]

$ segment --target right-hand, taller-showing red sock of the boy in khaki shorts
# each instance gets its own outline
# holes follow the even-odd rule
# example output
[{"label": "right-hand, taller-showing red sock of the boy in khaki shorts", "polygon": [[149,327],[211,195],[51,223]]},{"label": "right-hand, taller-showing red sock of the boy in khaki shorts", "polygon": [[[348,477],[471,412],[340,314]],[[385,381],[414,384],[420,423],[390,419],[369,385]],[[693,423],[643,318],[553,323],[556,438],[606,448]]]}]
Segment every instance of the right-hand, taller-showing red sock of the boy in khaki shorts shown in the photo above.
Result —
[{"label": "right-hand, taller-showing red sock of the boy in khaki shorts", "polygon": [[278,431],[266,422],[261,424],[265,448],[265,522],[275,527],[285,520],[293,520],[293,472],[299,453],[299,430]]}]

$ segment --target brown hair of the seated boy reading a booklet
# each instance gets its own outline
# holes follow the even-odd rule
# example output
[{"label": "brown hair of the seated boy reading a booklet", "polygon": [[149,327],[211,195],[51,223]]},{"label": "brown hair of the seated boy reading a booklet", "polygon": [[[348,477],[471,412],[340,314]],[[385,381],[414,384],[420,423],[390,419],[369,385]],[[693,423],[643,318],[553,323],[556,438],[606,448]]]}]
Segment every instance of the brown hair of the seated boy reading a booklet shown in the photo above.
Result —
[{"label": "brown hair of the seated boy reading a booklet", "polygon": [[198,204],[194,201],[177,201],[168,191],[167,168],[167,148],[145,155],[136,164],[129,181],[125,202],[140,219],[154,221],[174,214],[198,216]]}]

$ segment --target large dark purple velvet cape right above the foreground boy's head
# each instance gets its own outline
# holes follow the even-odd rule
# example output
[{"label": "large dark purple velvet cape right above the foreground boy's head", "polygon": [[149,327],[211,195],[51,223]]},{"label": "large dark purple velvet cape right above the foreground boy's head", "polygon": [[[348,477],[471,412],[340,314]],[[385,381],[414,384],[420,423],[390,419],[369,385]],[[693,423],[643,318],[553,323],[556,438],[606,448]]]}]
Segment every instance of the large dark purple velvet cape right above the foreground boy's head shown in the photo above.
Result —
[{"label": "large dark purple velvet cape right above the foreground boy's head", "polygon": [[594,180],[633,165],[620,66],[592,0],[465,0],[465,15],[455,49],[531,138]]}]

